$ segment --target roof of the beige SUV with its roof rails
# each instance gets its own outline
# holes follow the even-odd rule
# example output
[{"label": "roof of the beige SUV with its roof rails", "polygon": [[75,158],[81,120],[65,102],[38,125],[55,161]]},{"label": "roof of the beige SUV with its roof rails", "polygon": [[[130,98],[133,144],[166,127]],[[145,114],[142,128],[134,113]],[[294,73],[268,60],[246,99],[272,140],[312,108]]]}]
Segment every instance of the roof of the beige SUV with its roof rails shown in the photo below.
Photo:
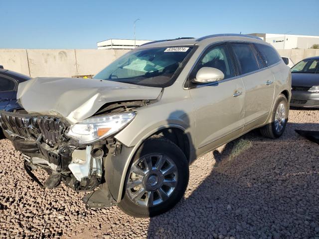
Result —
[{"label": "roof of the beige SUV with its roof rails", "polygon": [[251,35],[243,35],[243,34],[214,34],[214,35],[208,35],[203,36],[199,38],[193,38],[193,37],[180,37],[175,39],[167,39],[167,40],[159,40],[159,41],[152,41],[145,43],[137,49],[141,48],[150,48],[150,47],[160,47],[160,46],[184,46],[184,45],[201,45],[201,44],[207,44],[207,42],[211,41],[218,41],[218,40],[245,40],[245,41],[252,41],[252,42],[261,42],[264,41],[257,37],[257,36],[251,36]]}]

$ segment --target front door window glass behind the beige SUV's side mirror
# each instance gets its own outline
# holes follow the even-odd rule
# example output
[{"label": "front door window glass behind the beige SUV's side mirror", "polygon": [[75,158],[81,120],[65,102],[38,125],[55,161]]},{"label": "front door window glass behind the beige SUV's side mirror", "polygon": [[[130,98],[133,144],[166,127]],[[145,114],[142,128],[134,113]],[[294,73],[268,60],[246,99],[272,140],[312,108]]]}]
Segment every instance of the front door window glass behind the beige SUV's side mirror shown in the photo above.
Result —
[{"label": "front door window glass behind the beige SUV's side mirror", "polygon": [[234,66],[226,45],[211,48],[196,66],[196,72],[202,67],[213,67],[224,73],[224,79],[235,76]]}]

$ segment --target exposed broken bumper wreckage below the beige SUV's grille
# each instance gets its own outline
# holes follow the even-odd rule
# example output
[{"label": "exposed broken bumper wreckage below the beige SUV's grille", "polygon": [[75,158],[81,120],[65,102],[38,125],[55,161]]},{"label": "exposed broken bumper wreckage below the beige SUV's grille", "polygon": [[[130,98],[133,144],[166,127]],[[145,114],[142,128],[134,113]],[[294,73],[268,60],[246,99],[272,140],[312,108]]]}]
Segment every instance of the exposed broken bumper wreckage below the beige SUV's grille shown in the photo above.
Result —
[{"label": "exposed broken bumper wreckage below the beige SUV's grille", "polygon": [[54,148],[43,142],[20,138],[7,130],[6,133],[15,149],[22,153],[26,170],[40,167],[50,175],[43,183],[44,187],[51,189],[62,181],[75,191],[92,191],[101,184],[104,156],[101,147],[76,148],[64,142],[61,147]]}]

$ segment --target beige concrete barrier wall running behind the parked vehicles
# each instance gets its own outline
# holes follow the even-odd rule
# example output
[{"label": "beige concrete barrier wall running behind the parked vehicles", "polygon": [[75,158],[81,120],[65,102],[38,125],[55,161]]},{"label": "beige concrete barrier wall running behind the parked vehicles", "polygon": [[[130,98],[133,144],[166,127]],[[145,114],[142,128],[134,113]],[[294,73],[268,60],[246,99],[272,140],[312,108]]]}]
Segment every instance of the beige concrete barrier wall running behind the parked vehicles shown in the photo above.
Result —
[{"label": "beige concrete barrier wall running behind the parked vehicles", "polygon": [[[117,49],[0,49],[0,65],[31,77],[95,75],[130,50]],[[319,49],[278,50],[294,63],[319,56]]]}]

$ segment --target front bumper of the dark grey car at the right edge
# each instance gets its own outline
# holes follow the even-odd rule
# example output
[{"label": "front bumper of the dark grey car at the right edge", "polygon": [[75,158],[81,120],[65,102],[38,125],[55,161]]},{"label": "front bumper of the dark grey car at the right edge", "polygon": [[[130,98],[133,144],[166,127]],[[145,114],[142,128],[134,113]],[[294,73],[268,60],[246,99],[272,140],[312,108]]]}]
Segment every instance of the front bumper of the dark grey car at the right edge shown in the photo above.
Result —
[{"label": "front bumper of the dark grey car at the right edge", "polygon": [[308,91],[292,91],[290,106],[319,108],[319,93],[312,93]]}]

